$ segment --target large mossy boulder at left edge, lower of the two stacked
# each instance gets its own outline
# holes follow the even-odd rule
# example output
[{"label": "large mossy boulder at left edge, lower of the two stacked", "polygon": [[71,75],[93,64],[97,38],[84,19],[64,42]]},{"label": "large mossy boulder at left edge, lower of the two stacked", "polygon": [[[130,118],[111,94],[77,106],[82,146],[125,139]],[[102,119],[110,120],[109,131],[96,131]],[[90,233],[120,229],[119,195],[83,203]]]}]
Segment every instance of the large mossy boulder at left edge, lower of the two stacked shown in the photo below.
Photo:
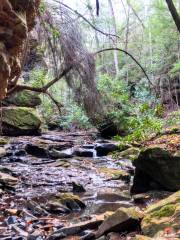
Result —
[{"label": "large mossy boulder at left edge, lower of the two stacked", "polygon": [[4,135],[19,136],[38,134],[40,125],[41,120],[32,108],[2,108],[2,131]]}]

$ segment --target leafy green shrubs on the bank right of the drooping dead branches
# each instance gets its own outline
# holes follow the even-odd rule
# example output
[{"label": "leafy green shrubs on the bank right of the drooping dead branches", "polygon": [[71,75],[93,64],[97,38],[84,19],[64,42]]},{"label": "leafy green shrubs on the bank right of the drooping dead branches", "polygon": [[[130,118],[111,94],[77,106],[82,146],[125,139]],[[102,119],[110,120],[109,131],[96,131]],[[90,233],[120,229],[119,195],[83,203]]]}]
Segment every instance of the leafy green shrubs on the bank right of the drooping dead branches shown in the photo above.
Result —
[{"label": "leafy green shrubs on the bank right of the drooping dead branches", "polygon": [[130,88],[127,84],[103,74],[99,77],[98,88],[104,103],[109,105],[108,117],[128,133],[123,138],[116,136],[116,140],[131,143],[160,132],[163,121],[159,117],[163,114],[163,108],[161,104],[156,104],[153,109],[149,106],[147,99],[153,98],[148,98],[146,85],[135,88],[134,99],[130,99]]}]

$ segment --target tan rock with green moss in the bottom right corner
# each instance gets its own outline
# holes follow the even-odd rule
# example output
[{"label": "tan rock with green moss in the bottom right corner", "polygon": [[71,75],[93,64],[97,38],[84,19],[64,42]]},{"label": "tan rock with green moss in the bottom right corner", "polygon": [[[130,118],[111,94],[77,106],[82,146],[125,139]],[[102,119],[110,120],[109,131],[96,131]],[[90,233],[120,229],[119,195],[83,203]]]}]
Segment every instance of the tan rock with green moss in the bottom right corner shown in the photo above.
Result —
[{"label": "tan rock with green moss in the bottom right corner", "polygon": [[180,229],[180,191],[148,206],[145,211],[145,217],[141,223],[144,235],[154,237],[166,228],[174,233]]}]

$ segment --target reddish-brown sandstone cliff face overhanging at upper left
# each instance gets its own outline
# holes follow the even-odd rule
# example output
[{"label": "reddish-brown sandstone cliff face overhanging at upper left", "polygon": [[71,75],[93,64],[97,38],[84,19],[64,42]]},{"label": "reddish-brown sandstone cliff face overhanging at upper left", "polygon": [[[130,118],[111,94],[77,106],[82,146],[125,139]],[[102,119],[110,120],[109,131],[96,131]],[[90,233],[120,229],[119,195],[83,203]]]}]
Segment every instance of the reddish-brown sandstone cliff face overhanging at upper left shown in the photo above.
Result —
[{"label": "reddish-brown sandstone cliff face overhanging at upper left", "polygon": [[20,75],[28,32],[35,24],[40,0],[1,0],[0,100]]}]

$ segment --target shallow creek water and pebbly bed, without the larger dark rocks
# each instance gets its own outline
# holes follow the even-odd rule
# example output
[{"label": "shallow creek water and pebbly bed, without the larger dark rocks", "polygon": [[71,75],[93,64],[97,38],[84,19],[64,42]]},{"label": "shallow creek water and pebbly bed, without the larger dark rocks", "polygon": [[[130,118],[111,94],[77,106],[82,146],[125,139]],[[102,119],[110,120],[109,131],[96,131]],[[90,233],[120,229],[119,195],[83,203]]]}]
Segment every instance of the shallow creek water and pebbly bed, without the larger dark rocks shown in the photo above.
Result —
[{"label": "shallow creek water and pebbly bed, without the larger dark rocks", "polygon": [[[18,183],[13,190],[5,191],[0,199],[0,239],[48,239],[49,234],[61,225],[69,226],[89,219],[92,215],[133,205],[129,195],[130,182],[107,174],[108,169],[132,172],[129,160],[96,157],[94,149],[91,150],[93,157],[35,157],[25,151],[27,144],[43,146],[44,149],[49,146],[58,149],[67,145],[65,148],[71,151],[84,145],[86,149],[86,146],[95,145],[96,140],[94,134],[81,132],[48,132],[37,137],[10,138],[9,144],[5,146],[7,155],[1,158],[1,166],[10,169],[13,176],[18,178]],[[72,193],[73,182],[81,184],[86,190],[84,193],[74,193],[85,203],[83,210],[68,214],[46,212],[36,215],[36,206],[35,209],[29,208],[27,202],[32,200],[42,206],[48,202],[49,196]],[[114,199],[113,193],[121,197]],[[33,238],[34,231],[39,231],[39,236]]]}]

